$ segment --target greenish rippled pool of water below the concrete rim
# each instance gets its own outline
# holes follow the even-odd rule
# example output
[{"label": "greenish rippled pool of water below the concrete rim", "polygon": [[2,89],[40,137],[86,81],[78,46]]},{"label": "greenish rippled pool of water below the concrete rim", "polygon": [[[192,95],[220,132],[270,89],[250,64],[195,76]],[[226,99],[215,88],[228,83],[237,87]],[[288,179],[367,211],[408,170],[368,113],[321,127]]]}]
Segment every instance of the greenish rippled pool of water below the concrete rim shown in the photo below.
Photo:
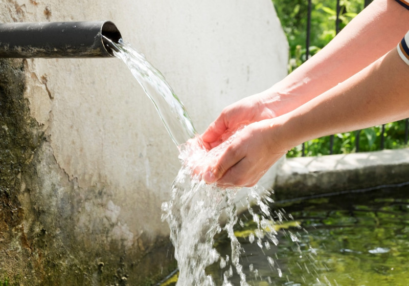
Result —
[{"label": "greenish rippled pool of water below the concrete rim", "polygon": [[[287,218],[277,225],[277,247],[260,248],[264,242],[253,241],[256,227],[246,214],[235,232],[249,285],[409,285],[408,187],[278,202],[271,208]],[[222,257],[231,252],[223,235],[216,239]],[[222,285],[225,271],[229,265],[220,269],[220,263],[207,269],[216,285]],[[177,274],[162,285],[176,280]],[[234,275],[230,281],[240,285]]]}]

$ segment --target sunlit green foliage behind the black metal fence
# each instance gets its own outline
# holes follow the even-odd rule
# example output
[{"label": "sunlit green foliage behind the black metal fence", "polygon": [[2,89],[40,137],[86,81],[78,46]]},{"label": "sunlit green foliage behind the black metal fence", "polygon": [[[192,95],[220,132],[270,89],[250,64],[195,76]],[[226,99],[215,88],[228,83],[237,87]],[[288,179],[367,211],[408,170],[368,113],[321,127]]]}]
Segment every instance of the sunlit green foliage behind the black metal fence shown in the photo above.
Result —
[{"label": "sunlit green foliage behind the black metal fence", "polygon": [[[290,46],[288,71],[297,69],[306,60],[306,36],[308,1],[306,0],[272,0],[280,18],[281,25]],[[342,30],[364,6],[363,0],[340,0],[338,28]],[[309,54],[319,52],[336,35],[336,0],[312,0],[311,31]],[[405,121],[385,124],[384,148],[396,149],[406,146],[404,143]],[[382,126],[375,126],[359,131],[359,151],[380,149]],[[350,153],[356,151],[358,131],[335,134],[333,153]],[[328,155],[330,137],[314,139],[305,143],[306,156]],[[290,150],[287,157],[302,155],[302,146]]]}]

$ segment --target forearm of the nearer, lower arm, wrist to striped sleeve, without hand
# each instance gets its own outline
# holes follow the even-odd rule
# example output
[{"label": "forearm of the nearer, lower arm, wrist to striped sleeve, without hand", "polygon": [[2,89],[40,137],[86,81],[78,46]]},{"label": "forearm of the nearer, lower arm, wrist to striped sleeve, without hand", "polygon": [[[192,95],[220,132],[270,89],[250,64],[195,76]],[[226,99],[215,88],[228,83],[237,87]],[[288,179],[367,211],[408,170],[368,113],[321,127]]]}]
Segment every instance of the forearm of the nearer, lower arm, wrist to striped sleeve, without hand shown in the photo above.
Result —
[{"label": "forearm of the nearer, lower arm, wrist to striped sleeve, without hand", "polygon": [[285,138],[283,148],[289,149],[321,136],[407,117],[409,66],[393,49],[343,83],[277,118],[283,128],[275,136]]}]

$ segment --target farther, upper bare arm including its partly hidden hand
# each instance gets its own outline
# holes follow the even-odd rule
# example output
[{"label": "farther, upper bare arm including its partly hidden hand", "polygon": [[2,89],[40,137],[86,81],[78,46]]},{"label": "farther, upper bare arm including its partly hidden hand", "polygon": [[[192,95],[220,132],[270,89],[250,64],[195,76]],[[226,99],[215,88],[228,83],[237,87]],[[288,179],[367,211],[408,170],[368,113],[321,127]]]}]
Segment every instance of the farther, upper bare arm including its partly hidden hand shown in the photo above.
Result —
[{"label": "farther, upper bare arm including its partly hidden hand", "polygon": [[409,11],[394,0],[375,0],[325,48],[270,89],[223,109],[202,135],[209,148],[226,131],[296,109],[390,51],[407,32]]}]

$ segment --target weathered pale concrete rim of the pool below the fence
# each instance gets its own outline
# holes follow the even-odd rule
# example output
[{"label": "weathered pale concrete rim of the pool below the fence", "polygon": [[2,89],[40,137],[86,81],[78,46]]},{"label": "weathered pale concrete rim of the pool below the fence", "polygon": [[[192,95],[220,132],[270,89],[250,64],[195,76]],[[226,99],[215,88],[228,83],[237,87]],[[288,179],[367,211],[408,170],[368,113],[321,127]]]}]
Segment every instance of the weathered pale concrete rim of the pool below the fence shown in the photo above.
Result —
[{"label": "weathered pale concrete rim of the pool below the fence", "polygon": [[290,158],[279,168],[275,199],[409,181],[409,148]]}]

